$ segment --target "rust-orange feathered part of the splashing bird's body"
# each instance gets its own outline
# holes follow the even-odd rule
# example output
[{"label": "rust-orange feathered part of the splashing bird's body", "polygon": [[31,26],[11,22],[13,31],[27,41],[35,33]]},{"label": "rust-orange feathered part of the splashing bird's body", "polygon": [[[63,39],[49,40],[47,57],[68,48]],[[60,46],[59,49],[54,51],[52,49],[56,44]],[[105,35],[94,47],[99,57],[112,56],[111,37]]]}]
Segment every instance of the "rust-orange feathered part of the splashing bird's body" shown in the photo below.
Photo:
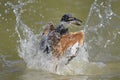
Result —
[{"label": "rust-orange feathered part of the splashing bird's body", "polygon": [[54,46],[53,54],[56,57],[59,57],[65,53],[65,51],[72,47],[76,42],[81,46],[84,41],[84,32],[70,32],[66,35],[63,35],[57,45]]}]

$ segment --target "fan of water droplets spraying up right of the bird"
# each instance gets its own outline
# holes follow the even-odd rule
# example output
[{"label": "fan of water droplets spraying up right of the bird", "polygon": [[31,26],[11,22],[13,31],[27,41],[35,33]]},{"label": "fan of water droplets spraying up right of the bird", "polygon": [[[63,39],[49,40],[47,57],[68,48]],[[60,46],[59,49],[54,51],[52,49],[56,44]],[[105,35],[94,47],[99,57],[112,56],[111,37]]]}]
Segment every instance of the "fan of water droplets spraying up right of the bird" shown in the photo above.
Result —
[{"label": "fan of water droplets spraying up right of the bird", "polygon": [[112,0],[95,0],[85,25],[91,61],[120,61],[120,16],[112,11]]}]

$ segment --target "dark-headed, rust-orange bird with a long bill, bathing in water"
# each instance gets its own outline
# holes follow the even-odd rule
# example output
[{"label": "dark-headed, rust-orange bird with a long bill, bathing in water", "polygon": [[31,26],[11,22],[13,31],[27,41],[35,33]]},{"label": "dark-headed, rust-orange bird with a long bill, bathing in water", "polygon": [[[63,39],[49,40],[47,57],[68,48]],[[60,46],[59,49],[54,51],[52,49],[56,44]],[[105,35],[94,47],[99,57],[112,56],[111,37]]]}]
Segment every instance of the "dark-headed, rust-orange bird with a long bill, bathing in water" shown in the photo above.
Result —
[{"label": "dark-headed, rust-orange bird with a long bill, bathing in water", "polygon": [[64,14],[57,27],[52,22],[44,26],[40,40],[40,49],[44,53],[49,54],[51,52],[54,57],[59,58],[76,42],[83,45],[84,32],[69,32],[66,27],[68,24],[81,26],[82,21],[71,14]]}]

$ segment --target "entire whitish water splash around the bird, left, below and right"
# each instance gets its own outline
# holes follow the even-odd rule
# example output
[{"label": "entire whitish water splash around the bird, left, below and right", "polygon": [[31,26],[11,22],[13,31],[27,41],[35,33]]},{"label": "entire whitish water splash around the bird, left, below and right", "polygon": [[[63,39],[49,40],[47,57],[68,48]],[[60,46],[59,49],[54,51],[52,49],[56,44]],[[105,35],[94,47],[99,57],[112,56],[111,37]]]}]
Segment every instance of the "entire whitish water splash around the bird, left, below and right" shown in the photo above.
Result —
[{"label": "entire whitish water splash around the bird, left, below and right", "polygon": [[[120,59],[120,55],[116,54],[113,56],[111,50],[112,46],[117,46],[114,48],[116,50],[115,52],[120,48],[120,45],[116,43],[118,38],[120,38],[120,17],[112,12],[110,1],[94,1],[85,24],[85,44],[78,51],[77,57],[67,65],[65,65],[66,57],[57,61],[51,54],[45,54],[39,50],[40,34],[34,34],[32,29],[21,20],[22,7],[28,3],[32,2],[28,1],[23,3],[20,1],[18,5],[13,5],[10,2],[7,4],[12,6],[16,16],[19,56],[24,59],[29,68],[43,69],[61,75],[110,73],[110,67],[103,62],[113,60],[113,58],[114,60]],[[88,58],[90,61],[96,60],[98,62],[90,62]],[[56,64],[58,65],[57,70],[55,70]]]}]

